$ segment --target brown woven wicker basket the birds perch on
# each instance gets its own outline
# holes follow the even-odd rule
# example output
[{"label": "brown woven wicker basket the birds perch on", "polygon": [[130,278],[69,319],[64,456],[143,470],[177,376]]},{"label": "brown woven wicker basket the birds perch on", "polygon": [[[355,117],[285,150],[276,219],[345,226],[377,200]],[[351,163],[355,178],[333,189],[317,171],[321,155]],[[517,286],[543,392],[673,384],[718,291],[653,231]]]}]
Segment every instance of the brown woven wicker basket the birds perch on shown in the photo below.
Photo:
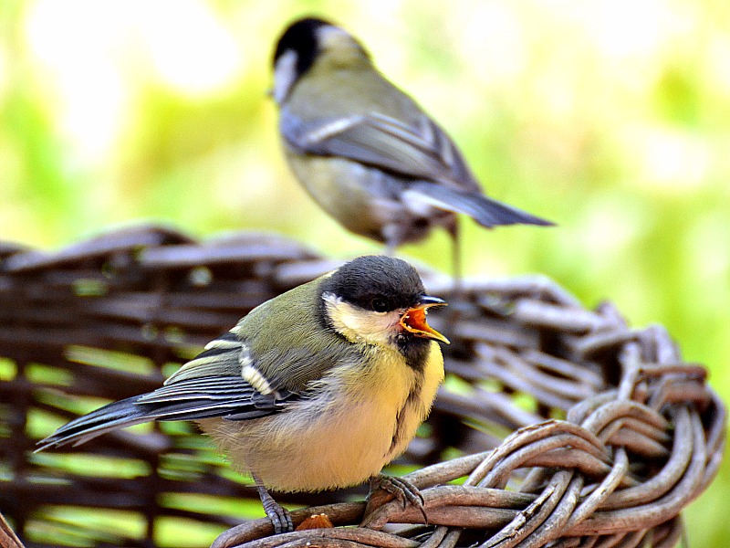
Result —
[{"label": "brown woven wicker basket the birds perch on", "polygon": [[[447,382],[396,465],[415,470],[429,525],[397,501],[372,501],[363,522],[363,490],[280,494],[318,506],[295,522],[323,512],[336,527],[269,537],[266,519],[244,522],[221,502],[260,509],[187,424],[33,453],[53,427],[152,390],[256,304],[335,264],[282,237],[199,243],[161,227],[57,253],[3,245],[0,512],[26,545],[156,546],[181,519],[191,531],[235,526],[219,547],[678,543],[680,511],[722,458],[725,407],[662,327],[631,329],[610,304],[585,310],[543,278],[467,280],[454,295],[422,273],[451,304],[432,320],[452,341]],[[116,511],[134,525],[94,519]]]}]

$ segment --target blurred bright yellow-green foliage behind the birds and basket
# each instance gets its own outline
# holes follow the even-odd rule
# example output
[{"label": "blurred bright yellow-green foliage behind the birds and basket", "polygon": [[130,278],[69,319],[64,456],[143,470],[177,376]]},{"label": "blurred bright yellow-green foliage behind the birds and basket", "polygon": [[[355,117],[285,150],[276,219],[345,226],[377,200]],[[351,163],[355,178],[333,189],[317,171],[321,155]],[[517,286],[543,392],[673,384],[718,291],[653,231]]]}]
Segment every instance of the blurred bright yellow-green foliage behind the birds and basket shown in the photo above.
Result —
[{"label": "blurred bright yellow-green foliage behind the birds and basket", "polygon": [[[465,222],[469,275],[542,272],[660,322],[730,395],[730,9],[721,0],[5,0],[0,237],[58,247],[139,219],[263,229],[327,254],[345,233],[283,163],[273,43],[318,14],[451,132],[491,195],[558,227]],[[437,234],[401,254],[448,269]],[[727,466],[687,511],[730,545]]]}]

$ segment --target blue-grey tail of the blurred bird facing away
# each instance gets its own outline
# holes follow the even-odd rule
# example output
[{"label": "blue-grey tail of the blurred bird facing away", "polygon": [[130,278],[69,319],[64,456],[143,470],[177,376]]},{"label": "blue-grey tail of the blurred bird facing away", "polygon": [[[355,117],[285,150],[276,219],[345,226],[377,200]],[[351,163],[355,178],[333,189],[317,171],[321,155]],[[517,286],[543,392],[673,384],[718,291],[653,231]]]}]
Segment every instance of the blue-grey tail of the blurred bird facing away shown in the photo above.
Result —
[{"label": "blue-grey tail of the blurred bird facing away", "polygon": [[406,203],[409,200],[414,200],[454,213],[463,213],[472,217],[482,227],[491,228],[499,225],[551,227],[555,225],[555,223],[546,219],[530,215],[525,211],[497,202],[485,195],[455,190],[442,184],[420,181],[411,184],[404,194],[403,197]]}]

